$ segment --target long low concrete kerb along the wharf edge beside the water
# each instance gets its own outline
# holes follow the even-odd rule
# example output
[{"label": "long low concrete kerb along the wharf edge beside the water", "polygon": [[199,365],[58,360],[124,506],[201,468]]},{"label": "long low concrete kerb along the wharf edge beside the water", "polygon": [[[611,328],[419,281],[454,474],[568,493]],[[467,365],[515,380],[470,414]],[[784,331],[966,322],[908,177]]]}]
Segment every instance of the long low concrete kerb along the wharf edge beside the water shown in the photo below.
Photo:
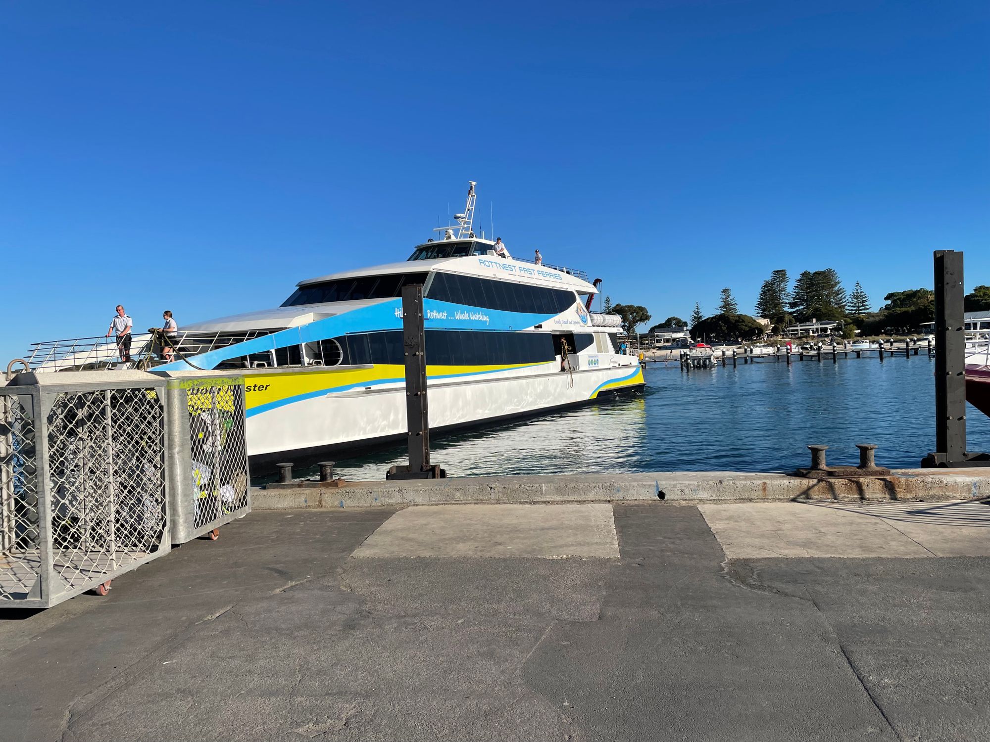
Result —
[{"label": "long low concrete kerb along the wharf edge beside the water", "polygon": [[983,498],[990,498],[990,469],[898,469],[889,477],[827,480],[787,474],[658,472],[348,482],[339,488],[254,489],[251,506],[253,510],[296,510],[450,503],[933,502]]}]

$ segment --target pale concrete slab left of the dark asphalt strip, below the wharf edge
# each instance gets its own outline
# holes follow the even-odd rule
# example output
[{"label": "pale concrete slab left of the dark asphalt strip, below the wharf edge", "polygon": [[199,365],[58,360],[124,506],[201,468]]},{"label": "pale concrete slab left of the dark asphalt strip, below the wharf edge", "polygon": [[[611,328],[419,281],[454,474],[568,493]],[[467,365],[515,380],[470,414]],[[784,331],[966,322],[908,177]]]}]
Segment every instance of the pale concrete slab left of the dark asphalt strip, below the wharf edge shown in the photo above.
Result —
[{"label": "pale concrete slab left of the dark asphalt strip, below the wharf edge", "polygon": [[612,506],[445,505],[396,512],[354,557],[619,556]]}]

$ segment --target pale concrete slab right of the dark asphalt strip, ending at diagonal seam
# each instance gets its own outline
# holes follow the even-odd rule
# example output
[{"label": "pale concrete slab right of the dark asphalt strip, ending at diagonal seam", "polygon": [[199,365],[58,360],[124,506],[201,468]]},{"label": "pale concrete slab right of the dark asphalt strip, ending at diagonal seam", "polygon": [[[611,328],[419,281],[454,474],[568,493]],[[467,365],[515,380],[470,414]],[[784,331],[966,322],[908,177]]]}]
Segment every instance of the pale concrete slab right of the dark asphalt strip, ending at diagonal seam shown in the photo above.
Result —
[{"label": "pale concrete slab right of the dark asphalt strip, ending at diagonal seam", "polygon": [[730,559],[933,556],[883,518],[851,510],[807,503],[701,505],[699,510]]}]

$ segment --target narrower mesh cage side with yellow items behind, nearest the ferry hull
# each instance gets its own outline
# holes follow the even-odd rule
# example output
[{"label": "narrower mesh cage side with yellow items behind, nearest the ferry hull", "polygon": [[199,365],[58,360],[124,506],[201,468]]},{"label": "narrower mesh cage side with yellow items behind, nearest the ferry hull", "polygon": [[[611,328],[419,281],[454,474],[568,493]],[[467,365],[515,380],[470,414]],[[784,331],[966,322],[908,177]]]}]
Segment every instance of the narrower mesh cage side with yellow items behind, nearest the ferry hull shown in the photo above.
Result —
[{"label": "narrower mesh cage side with yellow items behind, nearest the ferry hull", "polygon": [[221,525],[250,510],[244,378],[174,376],[168,381],[176,442],[169,446],[172,542],[216,538]]}]

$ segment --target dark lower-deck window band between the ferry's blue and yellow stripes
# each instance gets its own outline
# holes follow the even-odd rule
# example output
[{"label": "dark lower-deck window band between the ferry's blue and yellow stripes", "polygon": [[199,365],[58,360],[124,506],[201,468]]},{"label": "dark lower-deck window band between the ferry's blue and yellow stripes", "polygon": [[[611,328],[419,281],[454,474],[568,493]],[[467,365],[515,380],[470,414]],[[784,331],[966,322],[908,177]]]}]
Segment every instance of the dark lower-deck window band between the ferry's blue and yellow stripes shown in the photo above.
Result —
[{"label": "dark lower-deck window band between the ferry's blue and yellow stripes", "polygon": [[[347,348],[345,363],[404,363],[402,332],[363,332],[337,338]],[[427,330],[427,363],[431,366],[489,366],[553,360],[548,332]]]}]

